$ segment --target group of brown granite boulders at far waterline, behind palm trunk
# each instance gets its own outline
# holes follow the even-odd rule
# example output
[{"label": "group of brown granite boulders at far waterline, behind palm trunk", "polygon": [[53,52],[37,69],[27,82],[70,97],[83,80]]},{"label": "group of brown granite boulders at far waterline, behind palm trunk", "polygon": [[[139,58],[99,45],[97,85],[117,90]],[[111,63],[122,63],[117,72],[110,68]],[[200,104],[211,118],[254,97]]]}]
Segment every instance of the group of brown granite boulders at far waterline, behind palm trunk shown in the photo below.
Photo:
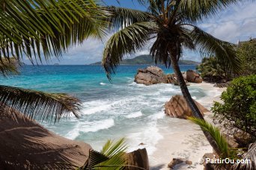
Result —
[{"label": "group of brown granite boulders at far waterline, behind palm trunk", "polygon": [[[188,76],[187,76],[188,75]],[[188,70],[187,72],[183,72],[183,78],[186,82],[186,85],[189,86],[189,82],[191,83],[201,83],[202,79],[198,73],[192,70]],[[189,81],[186,80],[189,78]],[[162,71],[157,66],[148,66],[145,69],[138,69],[137,74],[135,75],[135,82],[137,84],[174,84],[179,85],[177,82],[177,78],[175,74],[167,74]]]}]

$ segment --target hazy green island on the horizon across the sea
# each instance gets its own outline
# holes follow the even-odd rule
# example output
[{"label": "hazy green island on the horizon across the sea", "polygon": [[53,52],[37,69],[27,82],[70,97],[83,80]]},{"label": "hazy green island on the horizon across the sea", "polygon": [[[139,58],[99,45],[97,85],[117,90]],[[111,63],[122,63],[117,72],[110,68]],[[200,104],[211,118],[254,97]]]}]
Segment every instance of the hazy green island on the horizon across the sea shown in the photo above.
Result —
[{"label": "hazy green island on the horizon across the sea", "polygon": [[[100,65],[101,62],[91,63],[90,65]],[[179,60],[180,65],[198,65],[200,63],[192,60]],[[125,59],[121,62],[121,65],[156,65],[155,61],[150,55],[139,55],[132,59]],[[162,65],[162,63],[157,63]]]}]

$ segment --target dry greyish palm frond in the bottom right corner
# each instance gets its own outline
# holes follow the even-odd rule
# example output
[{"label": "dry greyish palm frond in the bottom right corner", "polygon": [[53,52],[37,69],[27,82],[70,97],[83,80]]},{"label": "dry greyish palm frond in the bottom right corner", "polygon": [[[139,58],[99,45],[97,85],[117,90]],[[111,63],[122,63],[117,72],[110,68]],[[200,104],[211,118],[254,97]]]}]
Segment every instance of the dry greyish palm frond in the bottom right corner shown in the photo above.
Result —
[{"label": "dry greyish palm frond in the bottom right corner", "polygon": [[[242,162],[244,161],[244,162]],[[256,142],[249,146],[248,152],[243,156],[243,160],[240,163],[234,164],[231,169],[255,169],[256,167]]]}]

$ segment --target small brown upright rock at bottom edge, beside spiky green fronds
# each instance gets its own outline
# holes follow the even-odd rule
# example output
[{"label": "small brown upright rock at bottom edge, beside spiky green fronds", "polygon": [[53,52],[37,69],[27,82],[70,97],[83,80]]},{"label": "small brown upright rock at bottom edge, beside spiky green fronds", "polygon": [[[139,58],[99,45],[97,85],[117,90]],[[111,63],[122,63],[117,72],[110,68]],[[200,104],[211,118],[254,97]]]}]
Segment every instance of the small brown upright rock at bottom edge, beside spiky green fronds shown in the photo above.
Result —
[{"label": "small brown upright rock at bottom edge, beside spiky green fronds", "polygon": [[149,161],[147,156],[147,150],[145,148],[132,151],[125,155],[127,160],[127,170],[136,170],[137,168],[132,166],[138,166],[143,169],[149,169]]}]

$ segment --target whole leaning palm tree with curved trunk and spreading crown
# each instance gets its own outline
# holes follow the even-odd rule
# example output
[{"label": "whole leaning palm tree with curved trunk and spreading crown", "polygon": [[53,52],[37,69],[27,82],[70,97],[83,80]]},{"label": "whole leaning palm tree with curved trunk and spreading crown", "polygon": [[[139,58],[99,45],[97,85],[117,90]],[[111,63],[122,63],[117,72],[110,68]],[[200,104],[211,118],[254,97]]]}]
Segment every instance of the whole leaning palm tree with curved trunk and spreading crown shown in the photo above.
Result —
[{"label": "whole leaning palm tree with curved trunk and spreading crown", "polygon": [[[214,54],[228,69],[238,72],[240,60],[235,54],[234,45],[213,37],[198,28],[196,22],[217,13],[232,4],[234,0],[138,0],[147,5],[147,12],[109,7],[112,11],[111,31],[116,31],[106,42],[102,64],[106,75],[111,79],[115,68],[125,54],[132,54],[153,41],[150,54],[155,61],[172,66],[186,102],[196,118],[204,119],[189,94],[183,79],[178,60],[185,48],[199,50],[202,54]],[[221,154],[210,134],[202,129],[210,144]]]}]

